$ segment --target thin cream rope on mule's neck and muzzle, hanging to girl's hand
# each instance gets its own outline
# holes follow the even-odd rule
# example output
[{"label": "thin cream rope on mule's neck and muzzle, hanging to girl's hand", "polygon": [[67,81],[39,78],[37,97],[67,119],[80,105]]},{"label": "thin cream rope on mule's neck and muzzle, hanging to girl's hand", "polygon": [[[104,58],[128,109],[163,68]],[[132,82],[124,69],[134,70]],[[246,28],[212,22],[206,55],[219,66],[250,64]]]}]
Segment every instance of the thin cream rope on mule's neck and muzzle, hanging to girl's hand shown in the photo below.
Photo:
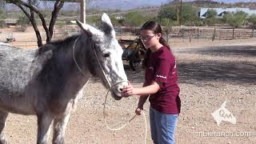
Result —
[{"label": "thin cream rope on mule's neck and muzzle, hanging to girl's hand", "polygon": [[[74,58],[75,43],[77,42],[77,40],[78,40],[78,38],[76,38],[75,41],[74,41],[74,46],[73,46],[73,58]],[[106,78],[106,74],[105,74],[105,72],[104,72],[104,70],[103,70],[103,68],[102,68],[102,64],[99,62],[98,55],[96,54],[95,49],[94,49],[94,54],[95,54],[95,56],[96,56],[96,58],[97,58],[97,61],[98,61],[99,66],[101,67],[102,74],[104,75],[104,78]],[[80,66],[78,66],[78,62],[76,61],[75,58],[74,58],[74,62],[75,62],[75,64],[76,64],[76,66],[78,67],[78,70],[80,70],[80,71],[82,72],[82,74],[83,74],[84,76],[86,76],[86,74],[84,74],[84,72],[82,71],[82,69],[80,68]],[[109,82],[109,80],[108,80],[107,78],[106,78],[106,82],[107,82],[107,83],[109,84],[109,86],[110,86],[109,90],[108,90],[107,93],[106,93],[106,98],[107,98],[107,97],[108,97],[108,94],[109,94],[109,92],[110,92],[110,90],[111,90],[114,86],[116,86],[116,85],[118,85],[119,83],[122,83],[122,82],[128,82],[128,80],[116,82],[116,83],[114,83],[114,85],[112,85],[112,86],[111,86],[111,84],[110,84],[110,82]],[[122,128],[126,127],[126,126],[137,116],[137,114],[135,114],[133,118],[130,118],[130,120],[129,120],[128,122],[126,122],[123,126],[121,126],[121,127],[119,127],[119,128],[110,128],[110,126],[108,126],[107,123],[106,123],[106,112],[105,112],[105,109],[106,109],[106,98],[105,98],[105,102],[104,102],[104,105],[103,105],[103,106],[104,106],[104,107],[103,107],[103,118],[104,118],[104,123],[105,123],[106,127],[107,127],[109,130],[113,130],[113,131],[122,130]],[[141,110],[141,111],[142,111],[142,115],[144,116],[144,122],[145,122],[145,141],[144,141],[144,143],[146,144],[146,130],[147,130],[146,114],[144,113],[143,110]]]}]

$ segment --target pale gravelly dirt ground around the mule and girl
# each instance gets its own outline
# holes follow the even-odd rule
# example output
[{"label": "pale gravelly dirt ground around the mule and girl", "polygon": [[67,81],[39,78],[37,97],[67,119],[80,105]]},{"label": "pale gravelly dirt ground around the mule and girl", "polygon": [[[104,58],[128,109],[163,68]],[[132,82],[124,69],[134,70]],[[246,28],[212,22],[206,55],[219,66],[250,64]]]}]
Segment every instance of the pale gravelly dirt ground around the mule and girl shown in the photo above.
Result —
[{"label": "pale gravelly dirt ground around the mule and girl", "polygon": [[[16,40],[31,39],[33,30],[14,33]],[[178,118],[175,142],[251,143],[256,142],[256,39],[214,41],[170,41],[178,61],[182,112]],[[142,86],[143,70],[126,70],[135,86]],[[68,144],[138,143],[144,142],[144,119],[138,116],[119,131],[110,131],[102,115],[106,90],[98,80],[91,80],[66,129]],[[221,122],[218,126],[211,113],[226,101],[226,109],[236,124]],[[111,127],[122,126],[134,116],[138,97],[114,101],[108,98],[106,121]],[[149,102],[144,106],[147,120],[146,143],[150,138]],[[10,114],[6,122],[6,138],[10,143],[36,143],[36,117]]]}]

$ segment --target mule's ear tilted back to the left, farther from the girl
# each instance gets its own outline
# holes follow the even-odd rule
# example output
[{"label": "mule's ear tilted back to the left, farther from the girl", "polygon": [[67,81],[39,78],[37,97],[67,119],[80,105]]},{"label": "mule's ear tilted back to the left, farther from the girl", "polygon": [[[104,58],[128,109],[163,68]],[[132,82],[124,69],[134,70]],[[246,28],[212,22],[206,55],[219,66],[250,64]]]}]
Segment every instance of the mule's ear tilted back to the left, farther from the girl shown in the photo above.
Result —
[{"label": "mule's ear tilted back to the left, farther from the girl", "polygon": [[90,26],[90,25],[87,25],[87,24],[84,24],[78,20],[76,20],[78,26],[81,28],[81,30],[83,30],[86,34],[89,34],[90,36],[102,36],[102,31],[101,30],[98,30],[96,28],[94,28],[93,26]]}]

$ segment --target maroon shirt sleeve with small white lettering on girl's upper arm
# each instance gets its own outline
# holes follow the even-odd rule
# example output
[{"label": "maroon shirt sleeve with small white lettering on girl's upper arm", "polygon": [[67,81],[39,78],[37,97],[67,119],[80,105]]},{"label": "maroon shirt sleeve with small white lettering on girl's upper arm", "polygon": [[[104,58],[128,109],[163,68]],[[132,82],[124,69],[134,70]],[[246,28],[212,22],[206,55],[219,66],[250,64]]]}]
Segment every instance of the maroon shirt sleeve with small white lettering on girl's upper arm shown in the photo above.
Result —
[{"label": "maroon shirt sleeve with small white lettering on girl's upper arm", "polygon": [[171,58],[158,58],[155,65],[154,81],[166,83],[171,65]]}]

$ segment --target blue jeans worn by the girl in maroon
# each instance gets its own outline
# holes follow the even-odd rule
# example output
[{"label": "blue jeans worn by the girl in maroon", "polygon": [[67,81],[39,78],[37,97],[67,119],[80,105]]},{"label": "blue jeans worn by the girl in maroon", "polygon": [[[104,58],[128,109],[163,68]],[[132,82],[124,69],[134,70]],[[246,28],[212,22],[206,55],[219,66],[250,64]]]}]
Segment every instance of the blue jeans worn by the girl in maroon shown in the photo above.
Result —
[{"label": "blue jeans worn by the girl in maroon", "polygon": [[155,144],[174,144],[178,114],[162,114],[150,106],[151,138]]}]

